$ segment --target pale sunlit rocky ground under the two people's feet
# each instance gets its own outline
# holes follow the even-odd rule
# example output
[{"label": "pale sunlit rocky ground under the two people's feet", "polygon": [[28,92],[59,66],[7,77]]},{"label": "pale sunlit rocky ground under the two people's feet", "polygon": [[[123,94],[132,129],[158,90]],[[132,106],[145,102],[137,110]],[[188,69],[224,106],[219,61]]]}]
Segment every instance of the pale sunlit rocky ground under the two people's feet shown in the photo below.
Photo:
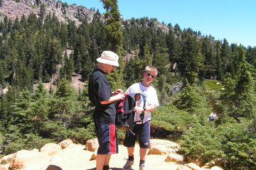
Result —
[{"label": "pale sunlit rocky ground under the two people's feet", "polygon": [[[97,140],[90,140],[90,144],[97,144]],[[177,149],[178,145],[166,140],[151,140],[154,148],[166,147],[168,149]],[[63,149],[62,145],[63,144]],[[158,146],[159,145],[159,146]],[[127,148],[119,145],[119,153],[112,154],[110,159],[111,169],[122,169],[128,157]],[[56,149],[57,148],[57,149]],[[70,140],[64,140],[58,144],[46,144],[39,152],[38,149],[32,151],[21,150],[16,152],[11,159],[11,163],[1,164],[0,170],[80,170],[95,169],[97,149],[89,151],[85,145],[76,145]],[[184,164],[183,156],[173,153],[169,154],[147,154],[146,166],[157,170],[199,170],[210,169],[210,167],[200,167],[196,164]],[[170,150],[168,151],[170,152]],[[8,157],[11,157],[9,155]],[[2,158],[4,160],[4,157]],[[7,161],[8,162],[8,161]],[[182,162],[182,163],[181,163]],[[181,163],[181,164],[180,164]],[[187,162],[188,163],[188,162]],[[134,147],[134,170],[139,170],[139,145]],[[211,170],[220,170],[214,166]]]}]

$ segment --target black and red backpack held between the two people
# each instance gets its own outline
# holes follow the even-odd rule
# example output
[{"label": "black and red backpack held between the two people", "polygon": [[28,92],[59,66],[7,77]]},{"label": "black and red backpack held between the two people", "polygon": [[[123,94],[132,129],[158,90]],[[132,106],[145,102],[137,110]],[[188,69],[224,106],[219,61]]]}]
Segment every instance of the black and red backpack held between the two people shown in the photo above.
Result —
[{"label": "black and red backpack held between the two people", "polygon": [[[116,113],[116,119],[115,119],[115,125],[117,129],[119,130],[125,130],[125,131],[132,131],[134,128],[134,108],[136,106],[136,100],[135,96],[139,94],[143,98],[143,103],[144,106],[146,105],[146,97],[144,94],[140,93],[132,93],[132,94],[124,94],[125,98],[117,101],[116,108],[117,108],[117,113]],[[141,98],[141,99],[142,99]],[[143,122],[144,118],[144,112],[140,115],[140,118]]]}]

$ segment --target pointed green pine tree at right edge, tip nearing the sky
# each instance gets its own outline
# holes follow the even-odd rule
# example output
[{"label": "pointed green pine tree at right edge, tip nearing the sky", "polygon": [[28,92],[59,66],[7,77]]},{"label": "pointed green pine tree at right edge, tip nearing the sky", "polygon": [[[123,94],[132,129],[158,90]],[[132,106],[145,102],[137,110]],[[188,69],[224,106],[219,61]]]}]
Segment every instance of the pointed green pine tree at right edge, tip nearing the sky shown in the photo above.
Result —
[{"label": "pointed green pine tree at right edge, tip nearing the sky", "polygon": [[238,120],[252,118],[255,111],[254,84],[245,62],[245,50],[239,47],[238,61],[236,61],[236,74],[232,79],[227,73],[224,79],[224,91],[221,95],[225,113]]}]

